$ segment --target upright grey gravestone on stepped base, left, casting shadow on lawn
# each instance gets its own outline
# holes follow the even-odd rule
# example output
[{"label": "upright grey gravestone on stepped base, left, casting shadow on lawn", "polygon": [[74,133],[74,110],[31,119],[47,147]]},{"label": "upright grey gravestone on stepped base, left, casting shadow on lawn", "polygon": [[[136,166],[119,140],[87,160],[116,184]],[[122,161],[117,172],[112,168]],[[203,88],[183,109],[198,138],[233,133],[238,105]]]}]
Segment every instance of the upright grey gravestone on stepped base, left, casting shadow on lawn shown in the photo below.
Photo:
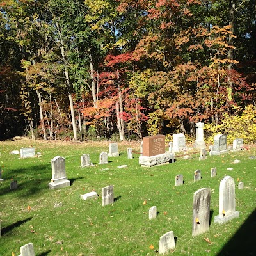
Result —
[{"label": "upright grey gravestone on stepped base, left, casting shadow on lawn", "polygon": [[49,189],[59,189],[70,186],[65,169],[65,158],[56,156],[51,160],[52,164],[52,179],[48,183]]}]

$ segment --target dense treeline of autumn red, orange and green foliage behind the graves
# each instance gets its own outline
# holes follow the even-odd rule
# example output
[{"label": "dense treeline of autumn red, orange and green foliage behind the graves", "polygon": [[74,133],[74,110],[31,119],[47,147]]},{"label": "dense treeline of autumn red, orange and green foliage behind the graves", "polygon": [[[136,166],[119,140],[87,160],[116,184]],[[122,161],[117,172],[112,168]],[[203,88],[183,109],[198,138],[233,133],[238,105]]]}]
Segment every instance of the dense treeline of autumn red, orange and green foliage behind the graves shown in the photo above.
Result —
[{"label": "dense treeline of autumn red, orange and green foliage behind the graves", "polygon": [[0,139],[256,125],[255,0],[1,0],[0,10]]}]

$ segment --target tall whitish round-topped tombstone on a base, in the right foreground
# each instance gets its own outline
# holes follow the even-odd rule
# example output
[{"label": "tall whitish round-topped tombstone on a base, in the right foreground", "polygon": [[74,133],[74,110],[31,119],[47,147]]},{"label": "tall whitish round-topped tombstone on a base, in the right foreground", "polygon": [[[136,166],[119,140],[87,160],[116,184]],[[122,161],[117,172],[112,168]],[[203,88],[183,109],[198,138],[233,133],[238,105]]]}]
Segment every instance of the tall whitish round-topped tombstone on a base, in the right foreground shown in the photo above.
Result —
[{"label": "tall whitish round-topped tombstone on a base, in the right foreground", "polygon": [[235,182],[230,176],[225,176],[219,187],[219,215],[214,217],[214,223],[226,223],[239,217],[239,212],[235,210]]}]

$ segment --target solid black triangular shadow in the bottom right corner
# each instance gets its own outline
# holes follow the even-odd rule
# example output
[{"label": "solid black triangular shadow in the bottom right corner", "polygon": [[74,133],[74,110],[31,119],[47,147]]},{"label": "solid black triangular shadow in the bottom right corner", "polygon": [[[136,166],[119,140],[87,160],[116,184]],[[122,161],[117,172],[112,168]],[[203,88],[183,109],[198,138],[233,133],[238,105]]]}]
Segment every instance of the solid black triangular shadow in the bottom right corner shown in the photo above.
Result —
[{"label": "solid black triangular shadow in the bottom right corner", "polygon": [[250,214],[236,234],[225,244],[217,256],[256,255],[256,209]]}]

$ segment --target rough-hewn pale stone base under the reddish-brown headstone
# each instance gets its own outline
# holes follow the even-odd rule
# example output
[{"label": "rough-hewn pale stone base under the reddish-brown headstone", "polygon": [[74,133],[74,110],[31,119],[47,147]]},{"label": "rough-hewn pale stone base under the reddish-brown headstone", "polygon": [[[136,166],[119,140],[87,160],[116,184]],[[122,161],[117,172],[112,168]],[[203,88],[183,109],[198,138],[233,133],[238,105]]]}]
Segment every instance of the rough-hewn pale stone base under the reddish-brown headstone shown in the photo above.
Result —
[{"label": "rough-hewn pale stone base under the reddish-brown headstone", "polygon": [[139,164],[141,167],[152,167],[162,164],[169,164],[171,157],[170,153],[159,154],[156,156],[140,156]]}]

